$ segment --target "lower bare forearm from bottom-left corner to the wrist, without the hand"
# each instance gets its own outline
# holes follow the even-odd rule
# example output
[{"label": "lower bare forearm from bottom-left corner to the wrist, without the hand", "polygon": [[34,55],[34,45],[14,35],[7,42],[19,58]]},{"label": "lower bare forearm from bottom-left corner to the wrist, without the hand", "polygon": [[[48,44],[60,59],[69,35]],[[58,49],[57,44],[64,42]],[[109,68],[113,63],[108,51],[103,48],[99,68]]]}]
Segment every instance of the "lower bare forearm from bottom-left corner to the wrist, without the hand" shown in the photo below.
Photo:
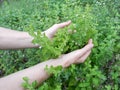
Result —
[{"label": "lower bare forearm from bottom-left corner to the wrist, without the hand", "polygon": [[44,70],[44,68],[48,66],[58,66],[62,65],[64,67],[64,63],[62,60],[49,60],[40,64],[37,64],[28,69],[16,72],[9,76],[0,79],[0,89],[1,90],[23,90],[21,84],[23,82],[23,77],[28,77],[30,79],[30,83],[33,81],[37,81],[39,84],[46,80],[49,75]]}]

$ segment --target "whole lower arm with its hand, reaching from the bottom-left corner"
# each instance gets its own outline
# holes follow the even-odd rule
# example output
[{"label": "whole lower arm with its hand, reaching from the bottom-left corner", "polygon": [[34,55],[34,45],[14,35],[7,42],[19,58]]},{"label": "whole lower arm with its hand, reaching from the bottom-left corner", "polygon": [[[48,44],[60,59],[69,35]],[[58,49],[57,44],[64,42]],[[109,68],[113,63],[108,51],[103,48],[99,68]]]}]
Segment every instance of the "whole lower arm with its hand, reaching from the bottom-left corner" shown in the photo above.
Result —
[{"label": "whole lower arm with its hand, reaching from the bottom-left corner", "polygon": [[25,70],[16,72],[14,74],[11,74],[9,76],[6,76],[4,78],[1,78],[0,89],[1,90],[23,90],[21,84],[23,82],[22,78],[25,76],[27,76],[30,79],[30,82],[37,80],[38,83],[40,84],[49,77],[47,72],[44,70],[46,65],[48,66],[52,65],[54,67],[62,65],[63,68],[66,68],[71,64],[82,63],[89,56],[92,47],[93,47],[92,40],[89,40],[88,44],[82,49],[63,55],[56,60],[51,59],[46,62],[37,64],[33,67],[30,67],[28,69],[25,69]]}]

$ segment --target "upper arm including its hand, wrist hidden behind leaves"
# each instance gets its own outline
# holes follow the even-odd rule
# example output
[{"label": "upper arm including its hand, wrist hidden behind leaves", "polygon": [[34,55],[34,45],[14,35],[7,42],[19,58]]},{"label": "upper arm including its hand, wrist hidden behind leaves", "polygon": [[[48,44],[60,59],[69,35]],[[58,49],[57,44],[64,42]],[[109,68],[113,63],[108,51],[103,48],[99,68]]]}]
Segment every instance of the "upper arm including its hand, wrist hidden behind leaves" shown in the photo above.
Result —
[{"label": "upper arm including its hand, wrist hidden behind leaves", "polygon": [[[48,38],[52,38],[58,28],[63,28],[69,25],[71,21],[55,24],[48,30],[44,31]],[[34,38],[28,32],[20,32],[0,27],[0,49],[20,49],[20,48],[36,48],[39,45],[34,45]]]}]

